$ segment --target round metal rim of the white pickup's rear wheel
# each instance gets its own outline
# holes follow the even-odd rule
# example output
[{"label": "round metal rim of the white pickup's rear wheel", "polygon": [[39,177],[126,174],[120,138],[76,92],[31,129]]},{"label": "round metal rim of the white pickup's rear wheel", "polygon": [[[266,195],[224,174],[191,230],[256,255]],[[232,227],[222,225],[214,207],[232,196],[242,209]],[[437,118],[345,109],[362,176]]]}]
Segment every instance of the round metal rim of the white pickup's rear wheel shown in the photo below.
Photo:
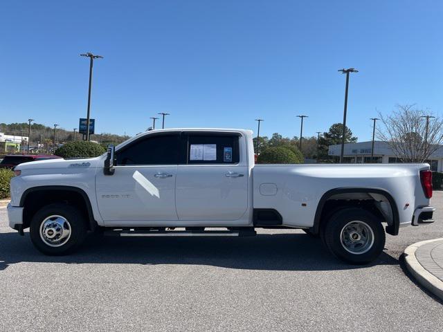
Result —
[{"label": "round metal rim of the white pickup's rear wheel", "polygon": [[361,255],[374,245],[374,232],[364,221],[350,221],[341,229],[340,240],[347,252]]}]

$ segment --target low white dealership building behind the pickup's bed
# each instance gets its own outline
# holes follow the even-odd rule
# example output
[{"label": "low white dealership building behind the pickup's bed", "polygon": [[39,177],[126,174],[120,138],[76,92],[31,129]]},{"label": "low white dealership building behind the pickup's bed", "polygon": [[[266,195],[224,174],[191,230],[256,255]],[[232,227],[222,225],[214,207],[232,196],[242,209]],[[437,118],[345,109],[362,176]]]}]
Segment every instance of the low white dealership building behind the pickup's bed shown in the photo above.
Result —
[{"label": "low white dealership building behind the pickup's bed", "polygon": [[[329,156],[340,157],[341,145],[329,145]],[[395,156],[394,151],[389,147],[387,142],[374,142],[374,157],[372,154],[372,141],[346,143],[343,153],[343,161],[345,163],[401,163],[400,158]],[[433,171],[443,172],[443,145],[431,155],[426,163],[431,165]]]}]

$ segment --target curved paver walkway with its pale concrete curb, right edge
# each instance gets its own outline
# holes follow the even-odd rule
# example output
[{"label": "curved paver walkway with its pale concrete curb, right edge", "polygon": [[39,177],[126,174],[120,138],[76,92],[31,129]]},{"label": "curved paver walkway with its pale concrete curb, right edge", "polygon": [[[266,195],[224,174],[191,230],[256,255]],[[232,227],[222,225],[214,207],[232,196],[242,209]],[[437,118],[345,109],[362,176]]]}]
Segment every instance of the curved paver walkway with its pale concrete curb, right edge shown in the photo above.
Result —
[{"label": "curved paver walkway with its pale concrete curb, right edge", "polygon": [[443,238],[414,243],[404,253],[406,267],[417,282],[443,299]]}]

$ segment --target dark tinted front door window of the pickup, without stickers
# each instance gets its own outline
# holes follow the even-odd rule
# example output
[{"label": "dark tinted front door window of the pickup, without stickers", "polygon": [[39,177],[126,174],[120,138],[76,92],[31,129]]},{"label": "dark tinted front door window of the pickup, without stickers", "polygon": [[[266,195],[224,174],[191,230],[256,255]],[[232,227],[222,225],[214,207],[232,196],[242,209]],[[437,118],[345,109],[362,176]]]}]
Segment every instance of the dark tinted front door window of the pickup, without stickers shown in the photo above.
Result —
[{"label": "dark tinted front door window of the pickup, without stickers", "polygon": [[148,135],[116,152],[117,165],[177,165],[179,134]]}]

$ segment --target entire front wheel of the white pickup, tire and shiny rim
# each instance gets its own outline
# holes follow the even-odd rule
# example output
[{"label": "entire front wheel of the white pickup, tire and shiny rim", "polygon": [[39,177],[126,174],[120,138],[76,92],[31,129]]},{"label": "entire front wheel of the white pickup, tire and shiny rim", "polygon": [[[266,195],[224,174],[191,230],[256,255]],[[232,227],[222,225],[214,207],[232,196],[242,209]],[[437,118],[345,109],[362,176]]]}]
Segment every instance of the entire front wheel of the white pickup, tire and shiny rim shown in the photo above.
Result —
[{"label": "entire front wheel of the white pickup, tire and shiny rim", "polygon": [[46,205],[30,222],[30,239],[46,255],[73,252],[84,241],[86,234],[82,213],[68,204]]}]

